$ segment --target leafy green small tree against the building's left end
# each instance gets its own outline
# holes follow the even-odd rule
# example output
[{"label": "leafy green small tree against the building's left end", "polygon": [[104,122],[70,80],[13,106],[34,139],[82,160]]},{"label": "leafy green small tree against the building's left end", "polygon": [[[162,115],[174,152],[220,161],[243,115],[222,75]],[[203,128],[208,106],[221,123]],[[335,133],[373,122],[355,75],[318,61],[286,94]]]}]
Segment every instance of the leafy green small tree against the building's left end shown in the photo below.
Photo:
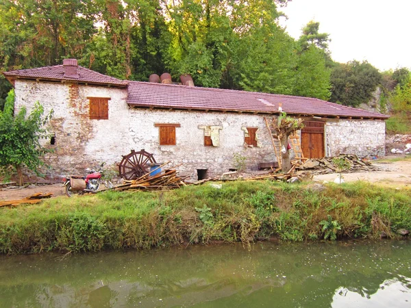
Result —
[{"label": "leafy green small tree against the building's left end", "polygon": [[27,166],[39,174],[38,167],[44,165],[40,158],[49,152],[41,146],[40,139],[47,138],[44,127],[52,112],[47,116],[43,113],[43,107],[37,102],[28,116],[25,107],[14,115],[14,90],[10,90],[4,110],[0,112],[0,166],[16,168],[19,185],[23,185],[22,167]]}]

